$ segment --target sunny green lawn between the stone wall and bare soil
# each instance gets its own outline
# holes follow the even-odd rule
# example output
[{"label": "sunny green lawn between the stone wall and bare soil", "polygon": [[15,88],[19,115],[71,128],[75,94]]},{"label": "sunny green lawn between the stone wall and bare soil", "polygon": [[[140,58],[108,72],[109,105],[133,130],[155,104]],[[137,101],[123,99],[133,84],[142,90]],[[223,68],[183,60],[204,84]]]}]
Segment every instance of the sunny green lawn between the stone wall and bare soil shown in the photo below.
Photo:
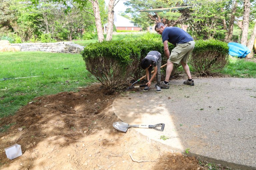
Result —
[{"label": "sunny green lawn between the stone wall and bare soil", "polygon": [[0,118],[13,115],[35,97],[76,91],[93,81],[80,54],[2,52],[0,63],[0,79],[40,76],[0,81]]}]

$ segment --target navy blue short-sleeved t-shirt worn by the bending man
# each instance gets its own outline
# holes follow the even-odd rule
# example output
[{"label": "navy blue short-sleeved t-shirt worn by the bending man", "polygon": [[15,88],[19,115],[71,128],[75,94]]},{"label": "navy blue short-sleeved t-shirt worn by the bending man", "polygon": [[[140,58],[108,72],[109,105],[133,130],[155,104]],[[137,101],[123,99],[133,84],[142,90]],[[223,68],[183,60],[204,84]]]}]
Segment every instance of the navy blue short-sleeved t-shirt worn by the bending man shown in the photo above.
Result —
[{"label": "navy blue short-sleeved t-shirt worn by the bending man", "polygon": [[163,42],[168,40],[168,42],[173,45],[184,44],[186,42],[193,41],[194,39],[184,30],[178,27],[165,27],[162,33]]}]

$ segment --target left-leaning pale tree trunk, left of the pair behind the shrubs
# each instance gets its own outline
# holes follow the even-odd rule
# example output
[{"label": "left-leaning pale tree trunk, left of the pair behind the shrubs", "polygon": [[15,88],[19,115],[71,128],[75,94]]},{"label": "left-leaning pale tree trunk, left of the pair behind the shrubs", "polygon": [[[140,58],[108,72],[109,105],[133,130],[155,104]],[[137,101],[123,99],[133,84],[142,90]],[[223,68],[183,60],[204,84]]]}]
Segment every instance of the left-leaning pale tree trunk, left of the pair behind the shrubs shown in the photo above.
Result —
[{"label": "left-leaning pale tree trunk, left of the pair behind the shrubs", "polygon": [[98,34],[98,40],[99,40],[99,42],[102,42],[104,40],[104,35],[103,35],[103,30],[102,30],[98,0],[90,0],[90,2],[92,3],[92,7],[93,7],[95,24],[96,24],[97,34]]}]

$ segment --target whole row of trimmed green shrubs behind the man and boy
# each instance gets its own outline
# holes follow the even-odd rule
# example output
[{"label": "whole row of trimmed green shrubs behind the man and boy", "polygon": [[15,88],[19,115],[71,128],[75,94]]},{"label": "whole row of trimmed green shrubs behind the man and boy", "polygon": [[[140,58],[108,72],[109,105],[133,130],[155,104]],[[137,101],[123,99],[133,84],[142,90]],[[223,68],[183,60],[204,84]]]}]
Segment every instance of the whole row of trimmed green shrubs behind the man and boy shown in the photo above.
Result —
[{"label": "whole row of trimmed green shrubs behind the man and boy", "polygon": [[[171,51],[174,45],[169,44]],[[211,74],[223,68],[228,62],[228,45],[217,40],[196,41],[190,57],[190,65],[198,74]],[[159,37],[140,37],[134,41],[103,41],[91,43],[81,52],[86,69],[102,85],[108,88],[122,88],[127,79],[139,79],[145,74],[140,61],[149,51],[162,54],[162,65],[167,58]],[[180,64],[174,64],[175,73]],[[165,69],[163,69],[165,71]]]}]

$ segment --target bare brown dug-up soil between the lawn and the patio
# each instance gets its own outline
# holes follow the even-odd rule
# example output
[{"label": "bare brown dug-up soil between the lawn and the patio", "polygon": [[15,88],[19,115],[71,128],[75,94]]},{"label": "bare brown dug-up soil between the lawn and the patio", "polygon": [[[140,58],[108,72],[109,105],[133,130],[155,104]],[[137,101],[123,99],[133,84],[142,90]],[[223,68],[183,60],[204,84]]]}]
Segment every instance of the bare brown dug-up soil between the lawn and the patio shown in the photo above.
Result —
[{"label": "bare brown dug-up soil between the lawn and the patio", "polygon": [[[0,127],[16,124],[0,133],[0,169],[203,169],[194,157],[167,152],[132,130],[114,129],[112,102],[118,95],[91,86],[35,98],[15,116],[1,118]],[[4,148],[15,143],[23,155],[10,160]]]}]

